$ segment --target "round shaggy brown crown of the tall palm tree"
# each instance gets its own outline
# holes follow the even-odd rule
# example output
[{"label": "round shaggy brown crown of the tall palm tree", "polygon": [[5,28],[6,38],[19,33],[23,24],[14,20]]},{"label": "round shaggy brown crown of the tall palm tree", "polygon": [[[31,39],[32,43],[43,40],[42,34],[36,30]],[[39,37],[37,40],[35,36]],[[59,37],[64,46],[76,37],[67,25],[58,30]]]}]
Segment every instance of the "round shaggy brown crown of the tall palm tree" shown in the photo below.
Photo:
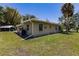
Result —
[{"label": "round shaggy brown crown of the tall palm tree", "polygon": [[71,3],[65,3],[62,6],[61,11],[65,17],[71,17],[74,12],[74,6]]}]

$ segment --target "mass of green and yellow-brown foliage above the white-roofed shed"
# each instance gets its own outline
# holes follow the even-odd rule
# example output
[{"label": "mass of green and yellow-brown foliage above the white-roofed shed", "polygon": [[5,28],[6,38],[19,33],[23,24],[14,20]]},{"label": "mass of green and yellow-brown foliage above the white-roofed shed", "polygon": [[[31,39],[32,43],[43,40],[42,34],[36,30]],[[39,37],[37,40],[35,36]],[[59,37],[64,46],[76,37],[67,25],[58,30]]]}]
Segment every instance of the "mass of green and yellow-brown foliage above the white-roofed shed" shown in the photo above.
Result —
[{"label": "mass of green and yellow-brown foliage above the white-roofed shed", "polygon": [[0,7],[0,24],[1,25],[16,25],[20,23],[21,15],[16,9],[10,7]]}]

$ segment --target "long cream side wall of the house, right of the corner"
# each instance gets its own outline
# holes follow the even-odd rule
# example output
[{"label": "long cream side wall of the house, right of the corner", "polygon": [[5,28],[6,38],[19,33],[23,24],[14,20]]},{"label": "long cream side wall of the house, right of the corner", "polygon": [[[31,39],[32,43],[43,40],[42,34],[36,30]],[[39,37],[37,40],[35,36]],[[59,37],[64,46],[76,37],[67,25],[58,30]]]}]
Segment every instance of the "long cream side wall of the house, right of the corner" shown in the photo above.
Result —
[{"label": "long cream side wall of the house, right of the corner", "polygon": [[[39,24],[43,24],[43,31],[39,31]],[[47,28],[45,28],[45,26]],[[51,26],[51,28],[50,28]],[[56,25],[52,24],[46,24],[46,23],[39,23],[39,22],[33,22],[33,35],[34,36],[39,36],[39,35],[45,35],[45,34],[50,34],[50,33],[55,33],[58,32],[58,30],[55,29]]]}]

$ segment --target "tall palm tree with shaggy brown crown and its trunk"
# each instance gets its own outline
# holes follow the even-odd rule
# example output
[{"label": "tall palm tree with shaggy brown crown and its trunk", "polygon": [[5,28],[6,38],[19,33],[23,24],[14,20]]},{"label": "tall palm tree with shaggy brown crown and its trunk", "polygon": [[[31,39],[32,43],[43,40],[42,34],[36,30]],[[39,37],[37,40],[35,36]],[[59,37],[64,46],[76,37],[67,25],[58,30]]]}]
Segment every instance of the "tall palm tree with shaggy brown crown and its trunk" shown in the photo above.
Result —
[{"label": "tall palm tree with shaggy brown crown and its trunk", "polygon": [[66,28],[66,32],[68,33],[70,30],[70,21],[71,21],[70,17],[73,16],[74,6],[71,3],[65,3],[61,8],[61,12],[65,17],[64,25]]}]

